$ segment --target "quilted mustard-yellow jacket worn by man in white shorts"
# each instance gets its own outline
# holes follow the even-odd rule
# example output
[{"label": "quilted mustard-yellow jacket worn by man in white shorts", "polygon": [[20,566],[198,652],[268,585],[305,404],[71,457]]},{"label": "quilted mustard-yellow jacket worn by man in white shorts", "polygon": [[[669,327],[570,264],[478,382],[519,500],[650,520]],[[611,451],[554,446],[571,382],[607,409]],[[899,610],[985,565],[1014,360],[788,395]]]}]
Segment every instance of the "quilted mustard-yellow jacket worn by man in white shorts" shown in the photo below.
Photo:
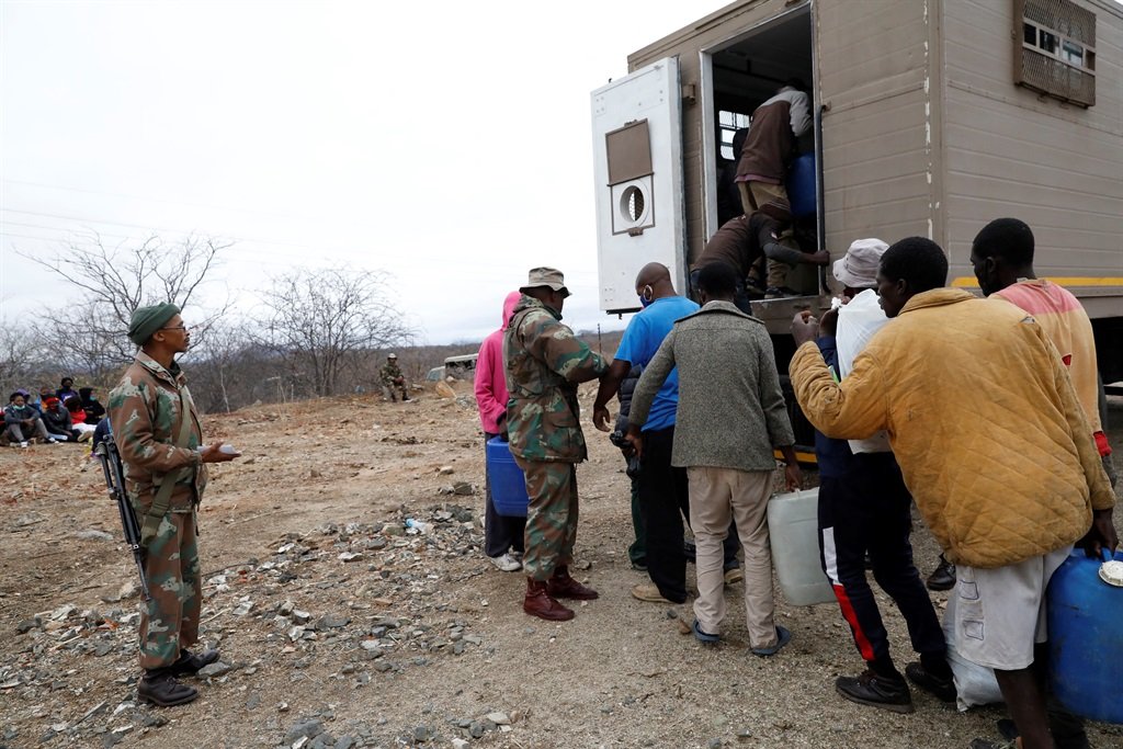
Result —
[{"label": "quilted mustard-yellow jacket worn by man in white shorts", "polygon": [[841,382],[814,344],[791,365],[824,435],[879,429],[952,561],[1001,567],[1072,544],[1115,497],[1068,373],[1033,318],[955,289],[916,294]]}]

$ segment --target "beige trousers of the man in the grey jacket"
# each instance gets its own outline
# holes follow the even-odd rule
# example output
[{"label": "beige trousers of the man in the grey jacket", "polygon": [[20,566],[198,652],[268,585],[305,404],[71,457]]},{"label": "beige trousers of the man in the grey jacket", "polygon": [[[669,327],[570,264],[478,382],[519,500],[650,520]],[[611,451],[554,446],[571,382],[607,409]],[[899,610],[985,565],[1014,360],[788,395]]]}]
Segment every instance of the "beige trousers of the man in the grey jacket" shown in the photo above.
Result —
[{"label": "beige trousers of the man in the grey jacket", "polygon": [[745,550],[745,622],[750,648],[776,645],[768,547],[768,497],[773,472],[704,466],[686,469],[691,492],[691,530],[697,557],[699,597],[694,615],[703,632],[719,634],[725,618],[722,541],[732,517]]}]

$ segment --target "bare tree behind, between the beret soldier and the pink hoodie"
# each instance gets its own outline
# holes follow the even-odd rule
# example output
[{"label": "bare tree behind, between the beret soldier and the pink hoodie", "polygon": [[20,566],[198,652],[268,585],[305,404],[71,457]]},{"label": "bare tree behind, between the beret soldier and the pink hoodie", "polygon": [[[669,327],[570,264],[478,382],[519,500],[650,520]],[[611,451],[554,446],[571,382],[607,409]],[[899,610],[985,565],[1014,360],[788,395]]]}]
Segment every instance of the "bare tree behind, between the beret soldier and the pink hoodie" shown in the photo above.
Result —
[{"label": "bare tree behind, between the beret soldier and the pink hoodie", "polygon": [[317,395],[337,392],[365,351],[412,337],[389,300],[384,273],[299,270],[274,278],[263,296],[262,340],[300,368]]}]

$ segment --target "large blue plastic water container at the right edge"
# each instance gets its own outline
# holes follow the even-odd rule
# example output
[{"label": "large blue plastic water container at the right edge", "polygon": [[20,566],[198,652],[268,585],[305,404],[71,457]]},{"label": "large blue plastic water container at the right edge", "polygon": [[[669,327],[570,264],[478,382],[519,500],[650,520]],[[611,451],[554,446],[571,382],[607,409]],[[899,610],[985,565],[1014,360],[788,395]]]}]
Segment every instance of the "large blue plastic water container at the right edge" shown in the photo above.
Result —
[{"label": "large blue plastic water container at the right edge", "polygon": [[1123,723],[1123,587],[1101,579],[1101,564],[1074,549],[1049,581],[1049,677],[1071,712]]}]

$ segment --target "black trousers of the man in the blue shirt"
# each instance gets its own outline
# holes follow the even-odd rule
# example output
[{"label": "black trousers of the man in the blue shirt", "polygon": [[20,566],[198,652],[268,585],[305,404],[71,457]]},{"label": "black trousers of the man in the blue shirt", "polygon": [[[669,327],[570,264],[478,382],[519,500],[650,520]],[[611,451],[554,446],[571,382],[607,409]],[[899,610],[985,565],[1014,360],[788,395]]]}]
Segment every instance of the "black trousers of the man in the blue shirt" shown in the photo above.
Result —
[{"label": "black trousers of the man in the blue shirt", "polygon": [[[686,468],[670,465],[675,428],[643,432],[639,506],[647,535],[647,574],[668,601],[686,601],[686,552],[683,531],[691,517]],[[725,539],[725,568],[737,566],[737,533]]]}]

